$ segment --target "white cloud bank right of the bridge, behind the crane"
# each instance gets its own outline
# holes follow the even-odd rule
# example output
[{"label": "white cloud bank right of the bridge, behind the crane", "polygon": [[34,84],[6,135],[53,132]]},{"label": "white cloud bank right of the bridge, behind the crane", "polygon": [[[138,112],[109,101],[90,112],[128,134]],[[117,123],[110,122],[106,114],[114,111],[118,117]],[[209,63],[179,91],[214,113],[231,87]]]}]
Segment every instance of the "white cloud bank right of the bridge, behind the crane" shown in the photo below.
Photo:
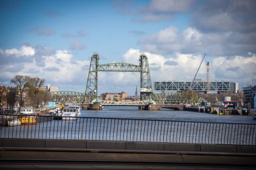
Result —
[{"label": "white cloud bank right of the bridge, behind the crane", "polygon": [[[131,48],[123,55],[123,60],[138,65],[139,55],[143,53],[148,56],[152,83],[154,81],[192,81],[203,58],[203,56],[181,53],[174,53],[172,56],[166,57]],[[256,81],[256,56],[250,54],[249,57],[233,56],[229,58],[224,56],[207,58],[206,56],[197,78],[206,81],[206,62],[210,60],[210,81],[234,81],[243,87],[244,82]],[[174,64],[169,65],[168,63]],[[133,81],[136,79],[139,78],[134,77]]]}]

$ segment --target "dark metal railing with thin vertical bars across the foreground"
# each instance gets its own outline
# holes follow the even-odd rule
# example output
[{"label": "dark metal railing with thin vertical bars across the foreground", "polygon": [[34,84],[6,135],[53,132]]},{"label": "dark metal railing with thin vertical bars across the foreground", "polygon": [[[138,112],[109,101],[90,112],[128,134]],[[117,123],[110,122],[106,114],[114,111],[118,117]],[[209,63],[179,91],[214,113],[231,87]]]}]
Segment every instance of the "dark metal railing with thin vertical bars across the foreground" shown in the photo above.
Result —
[{"label": "dark metal railing with thin vertical bars across the foreground", "polygon": [[[13,118],[21,119],[20,116],[3,116],[2,125]],[[34,125],[28,122],[26,126],[1,126],[0,137],[256,145],[256,124],[86,117],[71,117],[73,121],[64,121],[53,118],[36,116]]]}]

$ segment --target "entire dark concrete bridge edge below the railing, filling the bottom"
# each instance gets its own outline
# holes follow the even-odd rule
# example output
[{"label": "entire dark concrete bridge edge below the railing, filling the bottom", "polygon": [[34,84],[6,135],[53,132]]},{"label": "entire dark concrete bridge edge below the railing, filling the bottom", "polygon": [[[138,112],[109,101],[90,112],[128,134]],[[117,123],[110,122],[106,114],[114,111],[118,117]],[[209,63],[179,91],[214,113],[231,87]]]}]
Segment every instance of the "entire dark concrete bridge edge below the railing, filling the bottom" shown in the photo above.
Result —
[{"label": "entire dark concrete bridge edge below the railing, filling the bottom", "polygon": [[166,169],[166,165],[171,167],[177,163],[186,165],[185,169],[191,165],[207,165],[210,169],[215,169],[213,165],[216,169],[223,165],[224,169],[227,165],[234,169],[256,167],[256,146],[10,138],[1,138],[0,144],[0,169],[12,169],[13,165],[20,168],[22,161],[26,165],[30,160],[40,161],[40,165],[50,163],[50,169],[53,169],[53,163],[67,165],[69,161],[84,166],[86,163],[126,163],[126,169],[134,168],[129,167],[129,163],[150,165],[150,169],[151,165],[163,164]]}]

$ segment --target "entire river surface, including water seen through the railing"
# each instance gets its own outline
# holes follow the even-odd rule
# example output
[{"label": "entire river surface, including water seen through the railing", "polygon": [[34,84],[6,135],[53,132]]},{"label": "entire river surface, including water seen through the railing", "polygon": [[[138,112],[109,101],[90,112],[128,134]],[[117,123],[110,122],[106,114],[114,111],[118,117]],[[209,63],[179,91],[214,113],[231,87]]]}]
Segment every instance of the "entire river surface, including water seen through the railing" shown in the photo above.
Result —
[{"label": "entire river surface, including water seen through the railing", "polygon": [[0,138],[256,145],[256,121],[252,116],[117,106],[81,112],[82,117],[75,121],[51,120],[30,126],[1,127]]}]

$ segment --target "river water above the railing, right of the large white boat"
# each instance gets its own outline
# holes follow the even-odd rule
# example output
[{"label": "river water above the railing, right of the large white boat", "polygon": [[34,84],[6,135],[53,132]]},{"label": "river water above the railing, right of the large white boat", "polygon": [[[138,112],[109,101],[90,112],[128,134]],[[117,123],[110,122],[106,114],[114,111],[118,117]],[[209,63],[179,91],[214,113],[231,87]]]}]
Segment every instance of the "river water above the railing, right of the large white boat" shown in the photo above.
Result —
[{"label": "river water above the railing, right of the large white boat", "polygon": [[94,118],[135,118],[147,120],[178,120],[191,122],[225,122],[256,124],[252,116],[214,115],[188,111],[161,109],[159,111],[138,110],[137,107],[106,106],[103,110],[82,110],[82,116]]}]

